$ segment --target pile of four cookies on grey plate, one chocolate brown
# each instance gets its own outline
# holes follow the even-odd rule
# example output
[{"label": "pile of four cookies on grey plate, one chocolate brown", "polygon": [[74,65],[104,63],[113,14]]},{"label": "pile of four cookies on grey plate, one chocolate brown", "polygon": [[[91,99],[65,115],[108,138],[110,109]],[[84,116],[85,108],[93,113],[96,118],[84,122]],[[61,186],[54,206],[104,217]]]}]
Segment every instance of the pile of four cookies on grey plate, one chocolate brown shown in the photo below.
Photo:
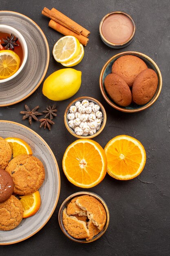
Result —
[{"label": "pile of four cookies on grey plate, one chocolate brown", "polygon": [[37,157],[11,157],[9,143],[0,137],[0,230],[11,230],[20,224],[24,210],[17,195],[34,193],[45,178],[44,166]]}]

